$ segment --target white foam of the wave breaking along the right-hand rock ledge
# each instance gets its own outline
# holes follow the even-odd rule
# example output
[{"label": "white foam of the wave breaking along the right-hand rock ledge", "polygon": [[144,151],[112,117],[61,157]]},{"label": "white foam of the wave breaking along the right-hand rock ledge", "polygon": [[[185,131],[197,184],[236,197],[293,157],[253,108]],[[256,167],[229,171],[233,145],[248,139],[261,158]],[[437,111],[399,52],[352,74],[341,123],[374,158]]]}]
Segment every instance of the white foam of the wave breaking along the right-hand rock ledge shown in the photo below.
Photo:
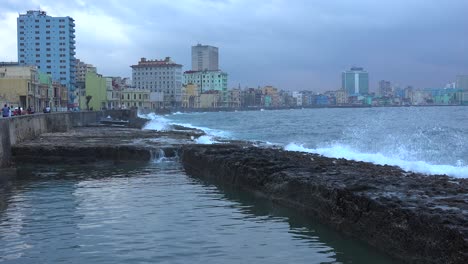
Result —
[{"label": "white foam of the wave breaking along the right-hand rock ledge", "polygon": [[386,156],[382,153],[362,153],[345,145],[333,145],[323,148],[306,148],[304,145],[289,143],[284,147],[287,151],[298,151],[316,153],[331,158],[344,158],[356,161],[366,161],[380,165],[398,166],[406,171],[419,172],[424,174],[447,174],[457,178],[468,178],[468,166],[463,164],[440,165],[429,164],[424,161],[408,161],[398,157]]}]

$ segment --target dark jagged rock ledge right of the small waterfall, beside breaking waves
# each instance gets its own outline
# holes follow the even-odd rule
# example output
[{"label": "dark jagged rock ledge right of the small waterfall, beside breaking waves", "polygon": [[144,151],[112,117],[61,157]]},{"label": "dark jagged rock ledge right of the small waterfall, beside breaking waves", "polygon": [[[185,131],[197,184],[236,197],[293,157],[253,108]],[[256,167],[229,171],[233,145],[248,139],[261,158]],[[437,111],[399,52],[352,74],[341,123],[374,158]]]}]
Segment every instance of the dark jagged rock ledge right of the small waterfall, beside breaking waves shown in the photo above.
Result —
[{"label": "dark jagged rock ledge right of the small waterfall, beside breaking waves", "polygon": [[408,263],[468,263],[468,181],[314,154],[185,145],[188,174],[299,209]]}]

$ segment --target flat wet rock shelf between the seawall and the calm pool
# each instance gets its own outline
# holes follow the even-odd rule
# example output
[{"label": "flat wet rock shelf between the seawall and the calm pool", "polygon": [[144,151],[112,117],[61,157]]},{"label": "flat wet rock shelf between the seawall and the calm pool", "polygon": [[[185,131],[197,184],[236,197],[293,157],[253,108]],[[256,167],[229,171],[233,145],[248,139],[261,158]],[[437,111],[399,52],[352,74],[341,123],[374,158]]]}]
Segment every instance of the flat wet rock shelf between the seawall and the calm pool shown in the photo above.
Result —
[{"label": "flat wet rock shelf between the seawall and the calm pool", "polygon": [[12,147],[15,162],[94,162],[101,159],[150,160],[161,151],[177,155],[183,144],[203,135],[199,130],[151,131],[125,127],[82,127],[46,133]]}]

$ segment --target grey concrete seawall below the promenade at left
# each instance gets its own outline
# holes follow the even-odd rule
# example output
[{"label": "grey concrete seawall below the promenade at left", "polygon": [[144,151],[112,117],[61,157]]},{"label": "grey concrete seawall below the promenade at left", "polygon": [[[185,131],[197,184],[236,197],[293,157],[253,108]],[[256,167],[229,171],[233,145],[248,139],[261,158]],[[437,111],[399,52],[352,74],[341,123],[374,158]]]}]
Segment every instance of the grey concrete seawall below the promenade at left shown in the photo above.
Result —
[{"label": "grey concrete seawall below the promenade at left", "polygon": [[42,133],[66,132],[73,127],[96,123],[102,112],[63,112],[0,119],[0,167],[10,165],[11,146]]}]

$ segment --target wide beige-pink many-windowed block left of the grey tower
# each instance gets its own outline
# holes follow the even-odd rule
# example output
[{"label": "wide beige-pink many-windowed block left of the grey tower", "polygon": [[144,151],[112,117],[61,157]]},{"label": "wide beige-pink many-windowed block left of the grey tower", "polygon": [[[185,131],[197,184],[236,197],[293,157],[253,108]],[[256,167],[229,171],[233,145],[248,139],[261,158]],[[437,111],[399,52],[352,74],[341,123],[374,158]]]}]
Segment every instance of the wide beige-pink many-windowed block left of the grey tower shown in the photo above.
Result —
[{"label": "wide beige-pink many-windowed block left of the grey tower", "polygon": [[164,95],[163,107],[180,106],[182,101],[182,65],[166,57],[164,60],[141,58],[132,68],[133,86]]}]

